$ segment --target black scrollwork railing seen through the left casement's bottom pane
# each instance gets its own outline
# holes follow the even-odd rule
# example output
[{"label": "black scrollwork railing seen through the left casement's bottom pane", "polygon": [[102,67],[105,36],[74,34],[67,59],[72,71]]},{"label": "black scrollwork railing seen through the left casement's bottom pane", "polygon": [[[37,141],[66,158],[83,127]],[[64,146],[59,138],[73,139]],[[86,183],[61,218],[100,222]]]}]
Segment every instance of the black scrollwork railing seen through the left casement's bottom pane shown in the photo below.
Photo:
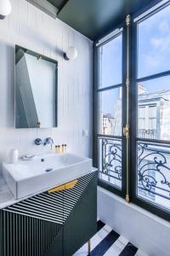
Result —
[{"label": "black scrollwork railing seen through the left casement's bottom pane", "polygon": [[122,180],[122,143],[120,140],[102,138],[102,172]]}]

